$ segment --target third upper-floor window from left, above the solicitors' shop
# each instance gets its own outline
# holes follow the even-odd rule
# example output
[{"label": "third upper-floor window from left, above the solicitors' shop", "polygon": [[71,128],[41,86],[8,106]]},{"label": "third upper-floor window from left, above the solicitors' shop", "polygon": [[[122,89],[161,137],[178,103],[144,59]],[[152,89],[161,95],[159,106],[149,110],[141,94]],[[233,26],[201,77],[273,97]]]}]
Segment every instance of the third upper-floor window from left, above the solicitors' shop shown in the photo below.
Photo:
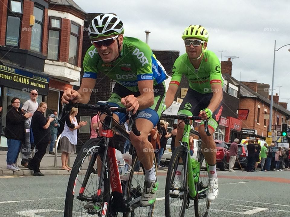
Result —
[{"label": "third upper-floor window from left, above the solicitors' shop", "polygon": [[47,59],[58,60],[61,18],[50,17]]}]

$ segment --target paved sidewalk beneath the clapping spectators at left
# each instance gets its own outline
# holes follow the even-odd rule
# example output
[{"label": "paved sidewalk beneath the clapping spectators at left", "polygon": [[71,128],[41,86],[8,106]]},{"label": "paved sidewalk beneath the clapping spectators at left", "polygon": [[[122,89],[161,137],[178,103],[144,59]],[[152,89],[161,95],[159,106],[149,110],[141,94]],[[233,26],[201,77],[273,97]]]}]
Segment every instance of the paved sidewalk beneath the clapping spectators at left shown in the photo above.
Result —
[{"label": "paved sidewalk beneath the clapping spectators at left", "polygon": [[[21,165],[21,154],[18,157],[18,167],[21,168],[19,171],[12,171],[6,169],[6,155],[7,151],[0,151],[0,176],[11,176],[11,175],[33,175],[33,171],[25,168]],[[73,162],[76,159],[77,154],[70,156],[69,165],[72,167]],[[40,162],[40,171],[44,175],[67,175],[70,174],[70,171],[63,170],[61,168],[61,153],[57,153],[57,164],[54,167],[54,155],[48,154],[44,155],[42,161]]]}]

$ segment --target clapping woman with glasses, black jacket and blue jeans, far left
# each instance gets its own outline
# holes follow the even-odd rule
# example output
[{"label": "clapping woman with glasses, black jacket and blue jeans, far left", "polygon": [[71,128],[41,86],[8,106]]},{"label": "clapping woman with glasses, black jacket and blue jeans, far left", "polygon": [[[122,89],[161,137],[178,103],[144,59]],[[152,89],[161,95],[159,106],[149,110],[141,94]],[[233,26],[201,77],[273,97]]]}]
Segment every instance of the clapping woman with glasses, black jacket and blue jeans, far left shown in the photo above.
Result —
[{"label": "clapping woman with glasses, black jacket and blue jeans, far left", "polygon": [[20,99],[14,97],[8,106],[6,114],[5,137],[7,138],[7,169],[20,170],[15,163],[17,161],[21,144],[24,142],[24,121],[31,117],[31,113],[24,114],[20,108]]}]

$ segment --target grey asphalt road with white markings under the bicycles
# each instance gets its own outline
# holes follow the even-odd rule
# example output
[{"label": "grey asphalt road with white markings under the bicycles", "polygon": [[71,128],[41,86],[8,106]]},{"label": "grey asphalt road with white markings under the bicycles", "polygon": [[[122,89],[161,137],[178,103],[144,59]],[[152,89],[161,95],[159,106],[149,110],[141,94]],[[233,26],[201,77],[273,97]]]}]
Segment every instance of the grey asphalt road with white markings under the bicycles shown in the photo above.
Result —
[{"label": "grey asphalt road with white markings under the bicycles", "polygon": [[[165,216],[165,175],[163,172],[158,176],[156,217]],[[219,196],[211,203],[208,216],[290,216],[289,171],[218,171],[218,176]],[[0,177],[0,216],[63,216],[68,178],[68,175]],[[194,216],[194,207],[186,210],[185,216]]]}]

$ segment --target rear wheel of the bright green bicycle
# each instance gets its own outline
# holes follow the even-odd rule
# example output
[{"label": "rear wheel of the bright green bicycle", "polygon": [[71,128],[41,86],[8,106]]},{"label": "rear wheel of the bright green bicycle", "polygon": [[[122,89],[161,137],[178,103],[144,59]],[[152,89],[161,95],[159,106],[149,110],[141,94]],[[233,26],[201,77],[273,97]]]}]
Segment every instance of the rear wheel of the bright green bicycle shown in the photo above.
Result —
[{"label": "rear wheel of the bright green bicycle", "polygon": [[196,217],[207,217],[210,201],[206,198],[206,190],[208,189],[208,171],[203,154],[200,154],[198,162],[200,163],[200,174],[198,183],[195,184],[195,189],[198,193],[198,200],[194,200],[194,211]]}]

